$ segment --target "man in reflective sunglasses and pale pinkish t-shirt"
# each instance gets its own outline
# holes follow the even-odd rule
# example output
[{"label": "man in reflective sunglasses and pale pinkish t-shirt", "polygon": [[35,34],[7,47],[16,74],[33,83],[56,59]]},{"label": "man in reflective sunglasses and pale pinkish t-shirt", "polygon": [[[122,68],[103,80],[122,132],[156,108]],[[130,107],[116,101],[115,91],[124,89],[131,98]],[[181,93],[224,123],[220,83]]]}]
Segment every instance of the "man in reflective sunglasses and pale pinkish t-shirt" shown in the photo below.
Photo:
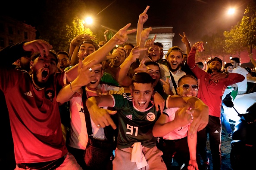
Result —
[{"label": "man in reflective sunglasses and pale pinkish t-shirt", "polygon": [[[197,97],[198,85],[197,79],[191,75],[184,75],[178,81],[178,96]],[[181,168],[183,164],[195,167],[198,170],[196,152],[197,152],[197,135],[193,138],[187,137],[187,133],[192,122],[191,118],[176,120],[175,112],[180,108],[168,108],[163,111],[156,124],[153,127],[153,135],[162,137],[158,143],[158,149],[163,152],[162,158],[167,169],[172,168],[172,156]],[[188,169],[190,169],[188,168]]]}]

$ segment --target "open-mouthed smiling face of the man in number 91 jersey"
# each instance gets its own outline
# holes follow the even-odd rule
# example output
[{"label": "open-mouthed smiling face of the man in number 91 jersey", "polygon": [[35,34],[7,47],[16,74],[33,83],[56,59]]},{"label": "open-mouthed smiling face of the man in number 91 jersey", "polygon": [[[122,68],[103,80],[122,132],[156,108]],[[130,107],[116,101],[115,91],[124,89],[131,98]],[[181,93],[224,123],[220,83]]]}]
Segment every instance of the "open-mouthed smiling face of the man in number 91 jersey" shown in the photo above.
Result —
[{"label": "open-mouthed smiling face of the man in number 91 jersey", "polygon": [[131,88],[131,94],[133,95],[134,106],[140,111],[147,109],[150,103],[151,96],[153,94],[153,85],[151,83],[136,83],[134,82],[133,88]]}]

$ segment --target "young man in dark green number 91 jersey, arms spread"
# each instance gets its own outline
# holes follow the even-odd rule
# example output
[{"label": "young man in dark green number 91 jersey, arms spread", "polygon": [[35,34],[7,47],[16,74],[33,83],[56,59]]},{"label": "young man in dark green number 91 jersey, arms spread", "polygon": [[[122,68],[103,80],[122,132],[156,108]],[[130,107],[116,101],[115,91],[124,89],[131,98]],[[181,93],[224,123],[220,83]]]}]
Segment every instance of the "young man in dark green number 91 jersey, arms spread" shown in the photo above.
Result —
[{"label": "young man in dark green number 91 jersey, arms spread", "polygon": [[[113,161],[114,170],[126,170],[127,167],[130,170],[143,167],[146,170],[166,169],[161,157],[162,152],[156,148],[156,137],[152,134],[153,125],[161,115],[156,111],[151,100],[153,82],[153,78],[148,73],[137,73],[132,79],[131,94],[95,96],[88,98],[86,102],[91,115],[116,113],[116,111],[100,109],[98,106],[111,106],[117,109],[119,134],[116,158]],[[168,107],[190,106],[194,112],[203,117],[208,113],[208,107],[196,97],[169,96],[166,101]],[[197,107],[196,102],[200,103],[200,106]],[[185,109],[179,116],[191,118]],[[99,123],[100,126],[102,124],[103,122]]]}]

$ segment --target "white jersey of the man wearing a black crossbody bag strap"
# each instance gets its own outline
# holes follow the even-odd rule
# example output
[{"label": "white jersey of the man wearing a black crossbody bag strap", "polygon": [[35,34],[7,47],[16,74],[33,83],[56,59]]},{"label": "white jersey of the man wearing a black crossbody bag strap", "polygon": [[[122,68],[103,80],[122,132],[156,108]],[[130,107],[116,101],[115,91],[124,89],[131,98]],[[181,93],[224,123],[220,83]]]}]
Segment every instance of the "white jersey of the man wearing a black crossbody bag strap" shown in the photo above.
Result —
[{"label": "white jersey of the man wearing a black crossbody bag strap", "polygon": [[[97,94],[123,94],[124,88],[100,84],[98,85],[97,91],[91,91],[86,88],[87,97],[96,96]],[[76,149],[85,149],[88,142],[87,128],[84,117],[84,107],[82,104],[82,97],[72,97],[69,101],[70,110],[70,137],[68,145]],[[107,107],[103,107],[106,109]],[[104,129],[97,128],[96,124],[91,120],[92,131],[94,138],[105,139]]]}]

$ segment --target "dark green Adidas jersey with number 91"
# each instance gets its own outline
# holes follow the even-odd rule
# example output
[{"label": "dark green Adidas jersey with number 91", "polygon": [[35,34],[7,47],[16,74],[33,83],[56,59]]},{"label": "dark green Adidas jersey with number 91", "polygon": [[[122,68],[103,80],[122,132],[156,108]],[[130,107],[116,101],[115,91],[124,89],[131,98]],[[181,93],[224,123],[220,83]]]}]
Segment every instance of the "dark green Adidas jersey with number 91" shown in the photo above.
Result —
[{"label": "dark green Adidas jersey with number 91", "polygon": [[119,133],[117,148],[128,148],[136,142],[142,146],[153,148],[156,146],[156,137],[153,137],[152,129],[161,112],[156,112],[153,101],[148,108],[141,112],[133,105],[130,93],[112,94],[114,105],[119,118]]}]

